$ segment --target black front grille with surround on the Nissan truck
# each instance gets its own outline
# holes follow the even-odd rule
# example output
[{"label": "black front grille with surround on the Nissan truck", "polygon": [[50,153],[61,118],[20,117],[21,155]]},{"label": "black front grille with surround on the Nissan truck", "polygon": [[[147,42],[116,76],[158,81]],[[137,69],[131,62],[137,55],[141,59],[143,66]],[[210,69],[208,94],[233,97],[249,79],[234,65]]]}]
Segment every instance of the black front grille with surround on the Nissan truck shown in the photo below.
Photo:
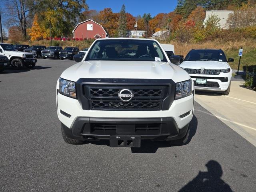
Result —
[{"label": "black front grille with surround on the Nissan truck", "polygon": [[[76,87],[84,110],[168,110],[175,94],[175,83],[165,79],[80,79]],[[125,89],[130,100],[118,96]]]}]

